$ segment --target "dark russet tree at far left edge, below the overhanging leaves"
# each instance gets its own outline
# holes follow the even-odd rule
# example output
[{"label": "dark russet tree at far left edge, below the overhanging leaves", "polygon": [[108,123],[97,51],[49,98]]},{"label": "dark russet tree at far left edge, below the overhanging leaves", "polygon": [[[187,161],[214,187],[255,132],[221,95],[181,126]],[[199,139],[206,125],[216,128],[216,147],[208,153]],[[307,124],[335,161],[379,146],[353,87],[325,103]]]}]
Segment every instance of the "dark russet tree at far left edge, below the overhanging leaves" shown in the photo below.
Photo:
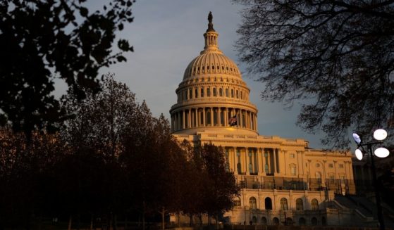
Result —
[{"label": "dark russet tree at far left edge, below the overhanging leaves", "polygon": [[56,165],[66,152],[57,134],[30,139],[0,128],[0,229],[30,229],[32,217],[56,213]]}]

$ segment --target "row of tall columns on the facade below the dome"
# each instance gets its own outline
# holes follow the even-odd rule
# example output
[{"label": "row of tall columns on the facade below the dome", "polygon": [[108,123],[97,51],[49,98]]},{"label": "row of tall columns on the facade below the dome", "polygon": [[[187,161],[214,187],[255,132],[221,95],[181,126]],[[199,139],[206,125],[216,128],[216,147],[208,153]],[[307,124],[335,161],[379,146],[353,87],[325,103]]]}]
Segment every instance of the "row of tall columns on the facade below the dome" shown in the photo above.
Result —
[{"label": "row of tall columns on the facade below the dome", "polygon": [[281,173],[278,148],[226,147],[226,169],[239,175]]}]

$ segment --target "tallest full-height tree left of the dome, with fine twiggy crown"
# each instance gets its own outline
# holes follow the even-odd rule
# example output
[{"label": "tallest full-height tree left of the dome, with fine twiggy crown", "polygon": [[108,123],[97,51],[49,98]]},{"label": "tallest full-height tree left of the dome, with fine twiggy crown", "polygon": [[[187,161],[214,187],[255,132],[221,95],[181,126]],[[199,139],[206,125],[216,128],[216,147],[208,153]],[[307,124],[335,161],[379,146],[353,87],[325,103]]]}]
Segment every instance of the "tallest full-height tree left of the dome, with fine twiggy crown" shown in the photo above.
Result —
[{"label": "tallest full-height tree left of the dome, with fine twiggy crown", "polygon": [[63,200],[69,200],[65,205],[70,215],[108,215],[110,226],[116,226],[116,214],[130,205],[125,201],[130,190],[120,158],[125,141],[135,138],[130,127],[137,127],[141,106],[135,94],[112,75],[104,77],[100,88],[97,94],[87,91],[83,101],[75,94],[63,98],[73,119],[62,129],[71,154],[59,168],[73,170],[59,181],[63,181]]}]

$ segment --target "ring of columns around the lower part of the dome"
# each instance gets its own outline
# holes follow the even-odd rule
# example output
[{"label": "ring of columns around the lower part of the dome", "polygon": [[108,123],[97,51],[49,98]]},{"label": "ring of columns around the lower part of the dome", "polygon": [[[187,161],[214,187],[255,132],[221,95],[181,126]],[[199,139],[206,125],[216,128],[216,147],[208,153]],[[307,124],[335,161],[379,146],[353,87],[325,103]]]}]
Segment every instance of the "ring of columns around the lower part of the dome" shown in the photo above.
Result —
[{"label": "ring of columns around the lower part of the dome", "polygon": [[231,117],[237,117],[234,127],[257,131],[257,115],[238,108],[188,108],[171,115],[172,132],[181,129],[209,126],[230,126]]}]

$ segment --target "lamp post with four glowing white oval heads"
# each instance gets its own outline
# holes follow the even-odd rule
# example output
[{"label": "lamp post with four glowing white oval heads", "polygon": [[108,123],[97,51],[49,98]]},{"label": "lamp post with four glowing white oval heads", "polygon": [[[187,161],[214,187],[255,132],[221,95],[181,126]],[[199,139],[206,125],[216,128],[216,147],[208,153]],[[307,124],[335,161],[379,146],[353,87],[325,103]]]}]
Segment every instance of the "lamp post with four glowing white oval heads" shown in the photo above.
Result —
[{"label": "lamp post with four glowing white oval heads", "polygon": [[[355,151],[356,158],[358,160],[362,160],[364,157],[364,146],[367,146],[369,150],[369,156],[371,158],[371,169],[372,169],[372,181],[374,184],[375,188],[375,198],[376,198],[376,209],[378,211],[378,222],[379,222],[379,228],[381,230],[384,230],[384,220],[383,220],[383,214],[382,214],[382,207],[381,207],[381,196],[379,195],[379,189],[378,189],[378,184],[376,183],[376,168],[375,168],[375,162],[374,162],[374,155],[378,158],[386,158],[389,154],[390,151],[388,151],[387,148],[383,148],[381,145],[383,143],[383,140],[386,139],[387,137],[387,132],[384,129],[376,129],[374,132],[374,139],[376,141],[369,142],[369,143],[362,143],[362,138],[359,136],[359,134],[353,133],[353,139],[357,143],[357,149]],[[379,148],[376,148],[374,153],[372,152],[372,146],[378,145],[380,146]]]}]

